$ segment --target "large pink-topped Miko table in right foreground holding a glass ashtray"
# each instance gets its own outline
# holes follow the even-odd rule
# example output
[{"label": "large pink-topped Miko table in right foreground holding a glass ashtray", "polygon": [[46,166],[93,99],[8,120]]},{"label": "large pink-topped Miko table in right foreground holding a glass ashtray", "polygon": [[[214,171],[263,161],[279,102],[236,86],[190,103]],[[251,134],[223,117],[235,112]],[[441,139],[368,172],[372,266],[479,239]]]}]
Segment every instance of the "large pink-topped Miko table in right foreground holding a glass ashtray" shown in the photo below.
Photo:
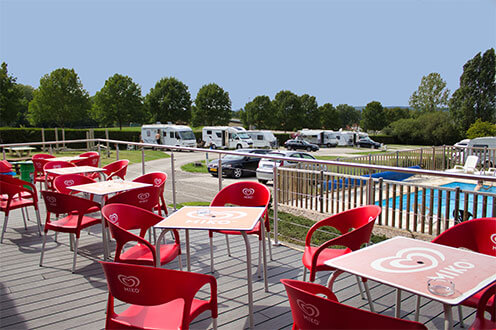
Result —
[{"label": "large pink-topped Miko table in right foreground holding a glass ashtray", "polygon": [[[329,280],[331,289],[342,272],[395,287],[396,317],[400,316],[401,290],[441,302],[445,329],[453,327],[452,306],[496,281],[496,257],[405,237],[391,238],[325,264],[337,269]],[[431,293],[427,288],[430,279],[452,281],[453,293]]]}]

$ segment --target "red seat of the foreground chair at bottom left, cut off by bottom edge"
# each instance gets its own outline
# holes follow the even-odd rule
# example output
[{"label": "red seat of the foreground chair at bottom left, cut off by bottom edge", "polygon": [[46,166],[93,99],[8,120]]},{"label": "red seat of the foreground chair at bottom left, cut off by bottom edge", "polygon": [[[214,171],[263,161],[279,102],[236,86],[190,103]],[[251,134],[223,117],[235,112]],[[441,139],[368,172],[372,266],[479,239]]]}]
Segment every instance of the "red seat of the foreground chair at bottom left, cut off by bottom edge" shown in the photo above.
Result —
[{"label": "red seat of the foreground chair at bottom left, cut off by bottom edge", "polygon": [[[207,303],[204,300],[193,299],[190,320],[207,310]],[[183,299],[176,299],[158,306],[131,305],[125,311],[113,317],[112,321],[138,329],[179,329],[183,308]],[[118,328],[118,324],[115,324],[115,326]]]}]

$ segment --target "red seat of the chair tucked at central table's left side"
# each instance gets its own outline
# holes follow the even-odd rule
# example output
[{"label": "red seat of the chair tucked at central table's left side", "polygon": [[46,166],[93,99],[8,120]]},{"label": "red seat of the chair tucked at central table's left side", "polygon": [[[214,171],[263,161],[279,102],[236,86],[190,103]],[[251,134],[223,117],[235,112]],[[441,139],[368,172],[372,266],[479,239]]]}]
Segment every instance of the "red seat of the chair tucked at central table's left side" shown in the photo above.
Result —
[{"label": "red seat of the chair tucked at central table's left side", "polygon": [[[165,265],[174,260],[179,255],[179,245],[166,244],[160,246],[160,264]],[[135,265],[153,265],[153,255],[146,246],[136,244],[125,250],[120,259],[122,262]]]}]

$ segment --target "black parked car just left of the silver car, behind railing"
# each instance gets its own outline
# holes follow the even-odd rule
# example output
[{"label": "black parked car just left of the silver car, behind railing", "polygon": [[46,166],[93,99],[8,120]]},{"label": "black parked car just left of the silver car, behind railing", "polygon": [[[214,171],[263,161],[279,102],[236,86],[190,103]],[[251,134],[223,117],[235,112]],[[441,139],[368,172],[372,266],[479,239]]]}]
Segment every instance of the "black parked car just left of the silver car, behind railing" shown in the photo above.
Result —
[{"label": "black parked car just left of the silver car, behind railing", "polygon": [[[238,149],[236,152],[239,153],[250,153],[263,155],[268,153],[269,149]],[[222,175],[230,176],[232,178],[240,178],[242,176],[255,176],[255,171],[258,167],[258,162],[260,158],[258,157],[248,157],[242,155],[225,155],[222,157]],[[212,176],[217,176],[218,174],[219,161],[212,160],[207,165],[208,172]]]}]

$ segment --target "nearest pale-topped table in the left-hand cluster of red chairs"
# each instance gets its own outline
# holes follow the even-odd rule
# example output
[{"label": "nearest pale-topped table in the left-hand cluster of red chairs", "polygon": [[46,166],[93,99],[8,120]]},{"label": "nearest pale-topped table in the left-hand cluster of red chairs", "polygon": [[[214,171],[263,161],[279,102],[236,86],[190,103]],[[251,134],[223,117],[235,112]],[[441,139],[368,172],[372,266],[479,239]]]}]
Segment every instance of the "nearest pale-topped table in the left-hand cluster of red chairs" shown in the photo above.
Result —
[{"label": "nearest pale-topped table in the left-hand cluster of red chairs", "polygon": [[[82,166],[78,166],[78,167],[82,167]],[[74,167],[74,168],[78,168],[78,167]],[[150,186],[151,184],[149,183],[141,183],[141,182],[133,182],[133,181],[125,181],[125,180],[109,180],[109,181],[99,181],[95,183],[87,183],[77,186],[71,186],[71,187],[67,187],[67,189],[79,191],[91,195],[96,195],[99,197],[98,202],[102,204],[103,197],[106,195],[118,193],[121,191],[131,190],[131,189],[150,187]],[[102,240],[103,240],[103,254],[105,260],[107,260],[110,253],[108,247],[107,230],[105,227],[105,219],[103,218],[103,216],[102,216]]]}]

